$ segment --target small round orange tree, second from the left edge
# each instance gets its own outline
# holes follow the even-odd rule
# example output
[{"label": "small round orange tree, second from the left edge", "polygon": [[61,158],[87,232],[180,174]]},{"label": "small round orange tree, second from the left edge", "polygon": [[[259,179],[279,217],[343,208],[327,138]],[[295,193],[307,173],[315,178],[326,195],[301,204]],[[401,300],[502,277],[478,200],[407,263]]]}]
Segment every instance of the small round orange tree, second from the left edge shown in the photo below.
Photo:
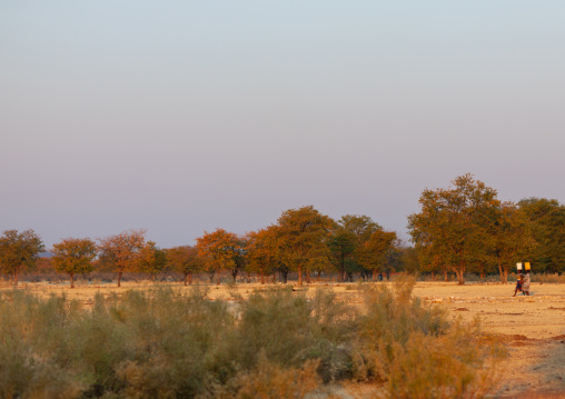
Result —
[{"label": "small round orange tree, second from the left edge", "polygon": [[70,288],[75,288],[75,275],[92,271],[97,251],[96,242],[89,238],[66,238],[53,245],[51,261],[57,271],[70,276]]}]

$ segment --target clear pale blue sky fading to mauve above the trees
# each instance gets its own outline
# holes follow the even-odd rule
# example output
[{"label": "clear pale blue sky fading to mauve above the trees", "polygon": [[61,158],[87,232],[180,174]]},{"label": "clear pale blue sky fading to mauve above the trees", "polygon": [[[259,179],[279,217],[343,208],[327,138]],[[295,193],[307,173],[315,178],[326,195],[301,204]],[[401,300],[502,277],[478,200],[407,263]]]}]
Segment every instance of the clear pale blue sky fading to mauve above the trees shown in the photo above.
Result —
[{"label": "clear pale blue sky fading to mauve above the trees", "polygon": [[0,1],[0,229],[162,248],[313,205],[565,202],[563,1]]}]

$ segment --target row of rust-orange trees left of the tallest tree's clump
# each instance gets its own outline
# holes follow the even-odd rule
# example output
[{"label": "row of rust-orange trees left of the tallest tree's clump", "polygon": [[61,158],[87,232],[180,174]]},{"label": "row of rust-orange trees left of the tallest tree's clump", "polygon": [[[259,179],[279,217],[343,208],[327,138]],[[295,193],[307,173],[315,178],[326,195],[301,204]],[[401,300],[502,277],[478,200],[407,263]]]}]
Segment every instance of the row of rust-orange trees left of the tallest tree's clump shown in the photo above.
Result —
[{"label": "row of rust-orange trees left of the tallest tree's clump", "polygon": [[[287,282],[296,272],[298,285],[311,282],[321,273],[338,272],[339,280],[353,280],[355,272],[364,279],[387,270],[398,248],[397,236],[385,231],[367,216],[344,216],[335,221],[313,206],[290,209],[277,223],[246,235],[218,228],[205,231],[195,246],[162,249],[145,238],[141,229],[127,230],[97,241],[90,238],[67,238],[53,245],[50,262],[54,270],[70,277],[75,287],[77,275],[109,271],[117,275],[118,287],[125,272],[150,273],[171,270],[184,276],[185,285],[195,273],[208,273],[210,282],[220,283],[229,272],[234,282],[244,273],[249,280],[258,276],[261,283],[278,276]],[[32,270],[42,251],[41,238],[33,230],[7,230],[0,237],[0,267],[18,283],[22,270]]]}]

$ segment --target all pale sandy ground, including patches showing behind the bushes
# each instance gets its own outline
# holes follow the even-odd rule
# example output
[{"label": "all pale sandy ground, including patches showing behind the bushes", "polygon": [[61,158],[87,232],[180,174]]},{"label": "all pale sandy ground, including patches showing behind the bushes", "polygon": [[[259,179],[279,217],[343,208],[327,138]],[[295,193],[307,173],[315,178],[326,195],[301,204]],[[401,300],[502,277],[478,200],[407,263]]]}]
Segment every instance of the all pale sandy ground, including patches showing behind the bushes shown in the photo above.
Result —
[{"label": "all pale sandy ground, including patches showing behind the bushes", "polygon": [[[386,283],[386,282],[380,282]],[[126,282],[121,289],[115,283],[68,286],[50,283],[22,283],[37,293],[66,292],[68,298],[91,303],[96,292],[109,295],[127,289],[155,289],[151,282]],[[357,283],[319,283],[305,286],[308,291],[323,286],[331,288],[338,298],[354,306],[360,306]],[[182,286],[175,285],[179,289]],[[238,285],[236,289],[227,286],[210,286],[208,297],[211,300],[232,300],[237,291],[244,298],[260,285]],[[11,289],[7,285],[0,290]],[[234,291],[235,290],[235,291]],[[440,306],[454,317],[470,320],[482,319],[486,331],[502,335],[508,346],[509,357],[500,370],[500,383],[494,392],[495,398],[565,398],[565,285],[532,283],[531,297],[514,293],[514,285],[468,283],[457,286],[454,282],[417,282],[414,295],[425,303]],[[348,388],[338,393],[343,398],[371,397],[370,387]]]}]

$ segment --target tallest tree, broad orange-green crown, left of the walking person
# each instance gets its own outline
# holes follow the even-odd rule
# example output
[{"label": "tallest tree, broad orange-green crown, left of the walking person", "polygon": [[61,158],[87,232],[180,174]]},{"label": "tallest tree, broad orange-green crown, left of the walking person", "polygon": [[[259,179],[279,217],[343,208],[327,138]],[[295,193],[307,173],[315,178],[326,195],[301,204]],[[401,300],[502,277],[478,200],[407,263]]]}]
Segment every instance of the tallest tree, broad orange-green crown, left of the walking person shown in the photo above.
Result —
[{"label": "tallest tree, broad orange-green crown, left of the walking person", "polygon": [[489,210],[499,207],[496,190],[474,180],[456,178],[448,189],[426,189],[419,198],[422,211],[408,217],[408,228],[417,248],[433,248],[442,261],[465,283],[467,266],[480,256],[487,242],[485,226]]}]

